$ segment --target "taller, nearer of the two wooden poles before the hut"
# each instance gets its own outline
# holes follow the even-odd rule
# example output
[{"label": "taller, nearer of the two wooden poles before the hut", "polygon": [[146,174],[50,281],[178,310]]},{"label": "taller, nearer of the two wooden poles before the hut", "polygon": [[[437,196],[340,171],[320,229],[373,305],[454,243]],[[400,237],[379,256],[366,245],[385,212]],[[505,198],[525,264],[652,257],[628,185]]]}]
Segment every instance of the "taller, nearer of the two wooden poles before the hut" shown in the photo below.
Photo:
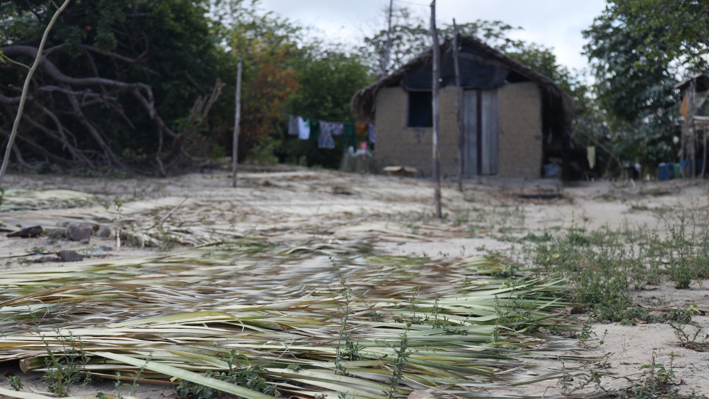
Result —
[{"label": "taller, nearer of the two wooden poles before the hut", "polygon": [[441,48],[438,45],[438,30],[436,29],[436,0],[431,1],[431,38],[433,50],[433,200],[436,206],[436,217],[441,219],[441,170],[440,170],[440,58]]}]

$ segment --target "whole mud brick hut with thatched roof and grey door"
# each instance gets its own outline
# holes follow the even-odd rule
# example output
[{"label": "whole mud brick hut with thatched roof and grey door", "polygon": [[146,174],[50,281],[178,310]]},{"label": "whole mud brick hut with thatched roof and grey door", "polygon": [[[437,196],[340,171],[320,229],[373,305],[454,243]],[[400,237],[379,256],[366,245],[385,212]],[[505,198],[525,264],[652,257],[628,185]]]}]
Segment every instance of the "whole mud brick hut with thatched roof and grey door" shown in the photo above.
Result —
[{"label": "whole mud brick hut with thatched roof and grey door", "polygon": [[[452,39],[447,39],[441,45],[440,66],[444,175],[454,175],[458,163],[451,50]],[[559,170],[557,165],[566,171],[584,169],[581,160],[569,163],[574,100],[552,79],[470,36],[459,36],[459,67],[465,175],[539,177]],[[430,138],[425,131],[430,127],[431,70],[428,49],[352,97],[352,114],[375,125],[374,158],[380,166],[413,166],[423,175],[430,173]],[[582,151],[585,155],[586,149]]]}]

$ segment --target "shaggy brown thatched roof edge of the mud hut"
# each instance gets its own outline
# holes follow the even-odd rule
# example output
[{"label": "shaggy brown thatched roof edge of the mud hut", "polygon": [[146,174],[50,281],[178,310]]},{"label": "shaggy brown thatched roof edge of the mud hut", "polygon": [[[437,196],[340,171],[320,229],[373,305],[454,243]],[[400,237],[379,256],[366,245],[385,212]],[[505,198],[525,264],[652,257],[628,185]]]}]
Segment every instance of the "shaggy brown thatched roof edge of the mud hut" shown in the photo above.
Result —
[{"label": "shaggy brown thatched roof edge of the mud hut", "polygon": [[[445,40],[445,43],[442,43],[442,52],[446,48],[450,47],[451,40],[452,39],[448,39]],[[576,113],[576,105],[574,104],[574,99],[571,98],[569,93],[565,92],[564,89],[559,87],[559,85],[553,80],[549,79],[549,77],[545,75],[542,75],[540,72],[532,70],[530,67],[527,67],[527,65],[520,64],[512,58],[509,58],[507,55],[504,55],[498,50],[491,48],[489,45],[486,45],[471,36],[459,36],[459,43],[473,48],[474,50],[478,50],[492,60],[500,62],[505,65],[505,67],[509,68],[510,72],[514,71],[518,75],[537,83],[540,89],[542,89],[542,92],[546,92],[546,94],[551,97],[549,98],[549,100],[551,100],[549,104],[555,105],[555,108],[557,108],[556,111],[559,113],[559,121],[566,126],[566,129],[568,129],[571,125],[571,119],[574,118],[574,114]],[[376,116],[376,92],[378,92],[381,87],[392,86],[398,82],[401,82],[407,72],[420,65],[430,62],[431,58],[432,50],[429,48],[416,56],[413,60],[407,62],[406,65],[403,65],[398,70],[392,72],[391,75],[383,77],[376,83],[370,84],[369,86],[364,87],[364,89],[359,90],[359,92],[354,94],[354,97],[352,97],[352,102],[350,103],[352,114],[354,114],[359,121],[373,122]]]}]

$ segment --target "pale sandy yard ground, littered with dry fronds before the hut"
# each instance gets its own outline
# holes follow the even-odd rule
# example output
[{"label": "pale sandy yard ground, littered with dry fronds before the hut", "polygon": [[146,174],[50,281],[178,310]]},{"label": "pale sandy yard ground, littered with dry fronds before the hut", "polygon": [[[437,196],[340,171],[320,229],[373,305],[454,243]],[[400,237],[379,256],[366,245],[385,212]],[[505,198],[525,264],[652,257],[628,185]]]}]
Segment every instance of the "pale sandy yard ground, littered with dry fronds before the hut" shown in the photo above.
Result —
[{"label": "pale sandy yard ground, littered with dry fronds before the hut", "polygon": [[[572,224],[586,229],[624,225],[646,226],[660,235],[666,234],[664,219],[681,212],[704,211],[709,185],[694,180],[669,182],[576,182],[562,185],[558,180],[475,179],[465,182],[459,192],[452,182],[442,188],[445,223],[433,217],[432,187],[427,180],[375,175],[354,175],[305,168],[273,168],[267,171],[245,171],[239,175],[239,187],[230,187],[230,175],[224,173],[191,174],[164,179],[134,178],[102,180],[58,175],[9,175],[6,189],[75,190],[94,195],[80,207],[72,203],[48,201],[26,209],[0,212],[3,228],[41,224],[55,228],[67,224],[101,224],[111,229],[126,219],[135,224],[167,217],[173,224],[183,223],[195,231],[208,231],[215,226],[228,226],[233,234],[260,236],[278,242],[352,239],[365,236],[383,253],[428,256],[469,256],[489,251],[507,252],[513,245],[498,241],[502,234],[527,234],[559,231]],[[525,200],[520,194],[558,192],[556,200]],[[185,198],[187,199],[185,200]],[[18,197],[21,203],[21,197]],[[116,200],[124,201],[121,209]],[[184,201],[184,202],[183,202]],[[104,207],[107,204],[107,207]],[[664,219],[663,219],[664,218]],[[180,222],[182,221],[182,222]],[[147,223],[147,222],[146,222]],[[182,226],[182,224],[181,224]],[[200,230],[202,229],[202,230]],[[89,249],[111,246],[108,258],[142,256],[160,251],[159,247],[128,246],[116,251],[116,239],[97,239],[79,244],[74,241],[0,238],[0,261],[6,268],[33,267],[43,252],[59,249]],[[517,244],[518,245],[518,244]],[[179,251],[178,244],[172,251]],[[33,250],[35,248],[35,250]],[[36,264],[36,263],[35,263]],[[34,264],[34,265],[35,265]],[[46,265],[46,264],[45,264]],[[60,265],[57,265],[60,266]],[[676,290],[671,282],[646,286],[635,293],[640,305],[664,302],[667,307],[686,307],[691,303],[709,306],[709,282]],[[696,327],[709,331],[709,316],[698,316]],[[693,330],[693,327],[687,327]],[[709,395],[709,358],[703,352],[683,349],[667,324],[621,326],[596,324],[599,336],[608,329],[605,344],[596,353],[608,355],[610,373],[603,382],[612,387],[627,385],[628,379],[640,376],[639,367],[648,364],[653,353],[668,363],[666,354],[674,351],[681,358],[674,361],[683,390],[698,390]],[[700,340],[702,336],[700,334]],[[14,369],[2,364],[3,370]],[[16,371],[17,372],[17,371]],[[621,378],[621,377],[627,378]],[[24,375],[28,386],[44,391],[39,373]],[[112,392],[110,383],[100,389]],[[0,386],[6,387],[5,379]],[[519,390],[525,395],[559,395],[559,386],[535,384]],[[77,388],[72,394],[93,393],[96,387]],[[173,390],[141,384],[139,399],[157,399]]]}]

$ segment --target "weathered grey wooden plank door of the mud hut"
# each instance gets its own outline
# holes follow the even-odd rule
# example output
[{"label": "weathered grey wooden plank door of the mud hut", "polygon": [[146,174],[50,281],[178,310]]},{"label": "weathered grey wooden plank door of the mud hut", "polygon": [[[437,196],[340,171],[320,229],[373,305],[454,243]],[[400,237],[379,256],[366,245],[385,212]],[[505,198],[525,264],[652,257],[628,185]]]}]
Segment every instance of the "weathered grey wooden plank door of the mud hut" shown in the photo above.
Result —
[{"label": "weathered grey wooden plank door of the mud hut", "polygon": [[498,122],[497,89],[464,90],[465,175],[498,173]]}]

